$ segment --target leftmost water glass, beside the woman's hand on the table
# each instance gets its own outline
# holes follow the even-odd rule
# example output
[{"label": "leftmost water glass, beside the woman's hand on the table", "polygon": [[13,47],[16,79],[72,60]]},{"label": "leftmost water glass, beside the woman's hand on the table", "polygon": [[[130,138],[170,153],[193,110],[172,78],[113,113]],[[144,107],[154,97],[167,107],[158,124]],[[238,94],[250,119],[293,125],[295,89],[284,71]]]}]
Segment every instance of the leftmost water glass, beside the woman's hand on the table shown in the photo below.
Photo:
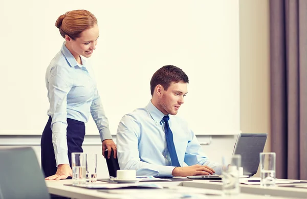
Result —
[{"label": "leftmost water glass, beside the woman's hand on the table", "polygon": [[73,185],[85,184],[86,153],[72,153]]}]

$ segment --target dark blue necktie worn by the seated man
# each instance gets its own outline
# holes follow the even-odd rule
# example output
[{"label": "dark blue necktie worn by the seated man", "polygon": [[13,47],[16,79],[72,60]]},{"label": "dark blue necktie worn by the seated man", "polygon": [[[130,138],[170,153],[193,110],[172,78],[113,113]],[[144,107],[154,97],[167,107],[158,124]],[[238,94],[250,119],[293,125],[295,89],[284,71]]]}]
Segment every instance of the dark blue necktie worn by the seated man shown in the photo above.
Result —
[{"label": "dark blue necktie worn by the seated man", "polygon": [[169,124],[168,124],[169,116],[164,116],[163,120],[165,122],[165,126],[164,126],[165,138],[166,138],[168,152],[170,155],[171,165],[180,167],[177,153],[176,153],[176,148],[175,148],[174,141],[173,141],[172,131],[170,130]]}]

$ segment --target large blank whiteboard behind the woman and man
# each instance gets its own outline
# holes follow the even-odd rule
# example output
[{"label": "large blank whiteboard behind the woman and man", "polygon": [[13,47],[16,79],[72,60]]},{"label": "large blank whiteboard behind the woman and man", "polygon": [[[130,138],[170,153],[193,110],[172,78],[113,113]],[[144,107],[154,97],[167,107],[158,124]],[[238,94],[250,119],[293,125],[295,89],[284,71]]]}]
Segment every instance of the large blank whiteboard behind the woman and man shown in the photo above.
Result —
[{"label": "large blank whiteboard behind the woman and man", "polygon": [[[15,0],[0,7],[0,135],[41,135],[49,108],[45,73],[63,42],[55,21],[75,9],[98,19],[91,62],[113,135],[124,114],[147,105],[150,78],[167,64],[189,77],[178,115],[196,135],[240,130],[238,0]],[[86,134],[99,134],[92,118]]]}]

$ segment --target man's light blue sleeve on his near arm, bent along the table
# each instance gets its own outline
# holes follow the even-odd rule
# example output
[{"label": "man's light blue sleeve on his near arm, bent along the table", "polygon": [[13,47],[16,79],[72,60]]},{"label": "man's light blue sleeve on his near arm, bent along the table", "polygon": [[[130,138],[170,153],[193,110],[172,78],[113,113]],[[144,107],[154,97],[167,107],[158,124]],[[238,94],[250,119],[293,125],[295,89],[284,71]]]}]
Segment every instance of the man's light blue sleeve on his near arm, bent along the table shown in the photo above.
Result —
[{"label": "man's light blue sleeve on his near arm, bent along the table", "polygon": [[117,154],[120,169],[136,170],[137,175],[171,177],[173,166],[153,165],[142,162],[139,157],[138,137],[140,124],[131,115],[125,115],[117,129]]}]

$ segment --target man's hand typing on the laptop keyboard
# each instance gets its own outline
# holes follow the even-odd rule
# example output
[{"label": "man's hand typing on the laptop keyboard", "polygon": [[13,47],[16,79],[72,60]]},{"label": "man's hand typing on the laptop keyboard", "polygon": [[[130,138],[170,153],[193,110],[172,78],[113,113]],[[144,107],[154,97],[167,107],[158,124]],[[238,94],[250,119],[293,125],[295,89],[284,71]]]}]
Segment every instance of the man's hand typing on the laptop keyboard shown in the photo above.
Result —
[{"label": "man's hand typing on the laptop keyboard", "polygon": [[212,168],[196,164],[188,167],[175,167],[171,174],[173,176],[186,177],[189,175],[212,175],[213,173],[215,173],[215,171]]}]

